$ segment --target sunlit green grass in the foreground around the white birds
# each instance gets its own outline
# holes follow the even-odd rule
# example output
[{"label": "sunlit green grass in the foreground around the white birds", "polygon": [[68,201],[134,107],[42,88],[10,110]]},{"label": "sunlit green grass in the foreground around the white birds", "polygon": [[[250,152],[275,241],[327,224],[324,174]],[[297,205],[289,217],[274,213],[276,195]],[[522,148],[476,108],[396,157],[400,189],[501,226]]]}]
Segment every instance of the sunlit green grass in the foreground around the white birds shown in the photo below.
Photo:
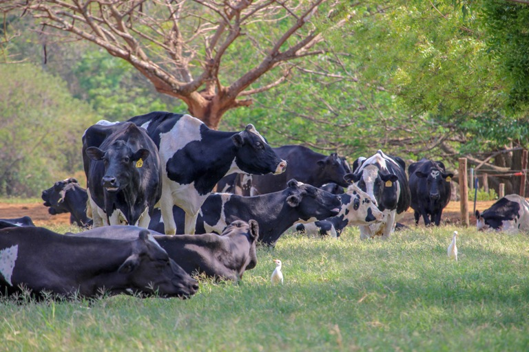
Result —
[{"label": "sunlit green grass in the foreground around the white birds", "polygon": [[[446,248],[459,231],[459,262]],[[5,351],[528,351],[529,237],[412,228],[284,235],[242,282],[189,300],[0,303]],[[272,259],[284,285],[273,287]]]}]

